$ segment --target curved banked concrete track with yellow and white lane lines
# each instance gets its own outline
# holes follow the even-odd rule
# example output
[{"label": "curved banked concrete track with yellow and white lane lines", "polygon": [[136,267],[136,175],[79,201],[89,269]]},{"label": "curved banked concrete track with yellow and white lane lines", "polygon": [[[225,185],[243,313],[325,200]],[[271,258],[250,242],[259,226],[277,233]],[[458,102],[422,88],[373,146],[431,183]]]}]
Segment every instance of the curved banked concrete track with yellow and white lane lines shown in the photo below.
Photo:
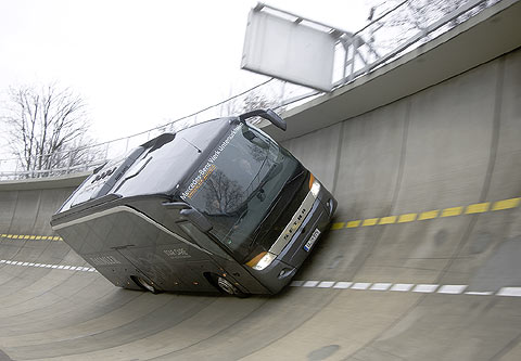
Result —
[{"label": "curved banked concrete track with yellow and white lane lines", "polygon": [[521,359],[521,50],[284,144],[340,207],[275,297],[116,288],[36,240],[80,179],[1,184],[0,360]]}]

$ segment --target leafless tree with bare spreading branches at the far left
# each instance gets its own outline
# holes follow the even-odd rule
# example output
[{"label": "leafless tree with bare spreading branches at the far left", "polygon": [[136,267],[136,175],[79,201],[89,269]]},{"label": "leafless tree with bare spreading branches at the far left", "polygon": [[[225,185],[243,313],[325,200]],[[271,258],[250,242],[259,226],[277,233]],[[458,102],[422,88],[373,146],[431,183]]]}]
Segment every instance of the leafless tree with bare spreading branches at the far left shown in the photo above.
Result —
[{"label": "leafless tree with bare spreading branches at the far left", "polygon": [[90,123],[81,96],[55,83],[10,88],[1,117],[9,146],[24,170],[47,170],[92,162]]}]

